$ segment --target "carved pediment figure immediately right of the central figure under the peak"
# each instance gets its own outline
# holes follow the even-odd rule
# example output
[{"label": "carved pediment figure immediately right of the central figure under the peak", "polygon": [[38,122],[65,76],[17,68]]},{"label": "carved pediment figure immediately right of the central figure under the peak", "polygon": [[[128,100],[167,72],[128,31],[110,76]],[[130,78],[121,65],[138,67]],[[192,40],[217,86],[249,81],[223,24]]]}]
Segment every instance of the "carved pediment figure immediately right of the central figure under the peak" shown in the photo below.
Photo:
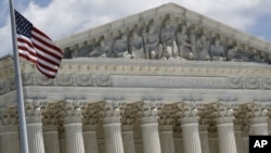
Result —
[{"label": "carved pediment figure immediately right of the central figure under the peak", "polygon": [[191,44],[189,43],[189,36],[186,35],[186,27],[182,26],[181,31],[177,33],[177,44],[179,48],[179,55],[183,59],[192,60]]}]

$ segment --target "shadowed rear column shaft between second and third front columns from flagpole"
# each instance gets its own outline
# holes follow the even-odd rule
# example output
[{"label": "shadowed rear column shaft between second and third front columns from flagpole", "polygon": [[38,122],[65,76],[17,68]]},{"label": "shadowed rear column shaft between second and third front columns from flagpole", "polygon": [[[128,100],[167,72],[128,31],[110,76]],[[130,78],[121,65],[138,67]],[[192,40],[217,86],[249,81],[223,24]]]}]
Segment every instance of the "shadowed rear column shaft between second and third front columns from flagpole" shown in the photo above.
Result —
[{"label": "shadowed rear column shaft between second and third front columns from flagpole", "polygon": [[88,125],[83,126],[83,144],[85,153],[99,153],[98,142],[96,142],[96,126]]}]

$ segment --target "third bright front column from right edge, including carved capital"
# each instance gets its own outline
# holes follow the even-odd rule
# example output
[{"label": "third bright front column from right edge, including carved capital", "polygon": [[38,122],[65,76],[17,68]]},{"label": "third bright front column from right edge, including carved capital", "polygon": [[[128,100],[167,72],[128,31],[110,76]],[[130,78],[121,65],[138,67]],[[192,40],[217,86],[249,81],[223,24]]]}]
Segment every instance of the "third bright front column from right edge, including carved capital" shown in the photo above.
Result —
[{"label": "third bright front column from right edge, including carved capital", "polygon": [[183,138],[184,153],[202,153],[198,117],[195,103],[178,104],[182,112],[180,118]]}]

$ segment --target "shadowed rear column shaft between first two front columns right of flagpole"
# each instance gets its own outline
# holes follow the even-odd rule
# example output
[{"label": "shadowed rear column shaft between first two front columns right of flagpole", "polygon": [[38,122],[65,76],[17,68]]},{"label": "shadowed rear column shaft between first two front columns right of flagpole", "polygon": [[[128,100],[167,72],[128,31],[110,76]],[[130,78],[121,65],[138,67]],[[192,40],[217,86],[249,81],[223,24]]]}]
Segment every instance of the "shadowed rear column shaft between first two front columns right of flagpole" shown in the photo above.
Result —
[{"label": "shadowed rear column shaft between first two front columns right of flagpole", "polygon": [[60,141],[57,126],[43,126],[43,140],[46,153],[60,153]]}]

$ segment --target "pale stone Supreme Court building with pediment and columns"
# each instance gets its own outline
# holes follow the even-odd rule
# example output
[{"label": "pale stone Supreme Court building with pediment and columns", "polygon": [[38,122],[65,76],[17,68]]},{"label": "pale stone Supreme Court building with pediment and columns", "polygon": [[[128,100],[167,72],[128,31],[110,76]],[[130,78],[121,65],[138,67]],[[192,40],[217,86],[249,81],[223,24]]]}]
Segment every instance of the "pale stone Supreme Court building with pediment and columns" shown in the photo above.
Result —
[{"label": "pale stone Supreme Court building with pediment and columns", "polygon": [[[21,61],[30,153],[248,153],[271,132],[271,43],[167,3],[56,41],[55,79]],[[20,153],[13,59],[1,153]]]}]

